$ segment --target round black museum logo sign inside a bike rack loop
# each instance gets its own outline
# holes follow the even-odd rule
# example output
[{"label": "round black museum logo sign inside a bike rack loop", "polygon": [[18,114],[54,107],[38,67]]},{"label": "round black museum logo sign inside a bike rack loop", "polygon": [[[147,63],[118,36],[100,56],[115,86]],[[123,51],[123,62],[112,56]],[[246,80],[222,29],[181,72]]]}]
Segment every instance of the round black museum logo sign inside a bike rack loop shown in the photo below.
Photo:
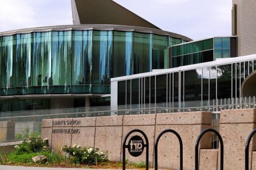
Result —
[{"label": "round black museum logo sign inside a bike rack loop", "polygon": [[143,138],[136,135],[130,138],[128,143],[128,151],[133,157],[138,157],[143,153],[144,141]]}]

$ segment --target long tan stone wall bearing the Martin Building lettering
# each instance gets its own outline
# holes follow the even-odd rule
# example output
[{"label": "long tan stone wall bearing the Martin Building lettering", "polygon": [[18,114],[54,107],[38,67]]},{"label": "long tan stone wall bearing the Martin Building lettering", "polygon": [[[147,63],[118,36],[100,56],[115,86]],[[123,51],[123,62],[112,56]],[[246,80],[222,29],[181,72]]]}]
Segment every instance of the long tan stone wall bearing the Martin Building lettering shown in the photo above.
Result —
[{"label": "long tan stone wall bearing the Martin Building lettering", "polygon": [[[73,125],[70,121],[73,121]],[[154,141],[164,129],[174,129],[183,140],[183,167],[194,169],[194,143],[202,130],[211,127],[211,122],[210,112],[43,120],[42,137],[49,138],[55,151],[60,151],[65,144],[94,146],[107,150],[111,160],[121,161],[121,147],[126,134],[133,129],[141,129],[149,139],[149,162],[153,166]],[[202,139],[201,149],[210,148],[209,137],[205,135]],[[130,157],[128,152],[126,155],[129,161],[140,162],[145,161],[146,152],[136,158]],[[179,169],[179,142],[174,135],[165,134],[160,139],[158,157],[159,167]]]}]

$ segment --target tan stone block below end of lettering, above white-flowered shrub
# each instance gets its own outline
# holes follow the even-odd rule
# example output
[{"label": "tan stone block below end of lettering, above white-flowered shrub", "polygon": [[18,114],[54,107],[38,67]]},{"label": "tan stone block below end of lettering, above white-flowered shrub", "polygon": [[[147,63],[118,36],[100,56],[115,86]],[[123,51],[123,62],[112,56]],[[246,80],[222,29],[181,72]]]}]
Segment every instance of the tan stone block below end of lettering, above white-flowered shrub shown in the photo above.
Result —
[{"label": "tan stone block below end of lettering, above white-flowered shrub", "polygon": [[80,134],[72,134],[72,143],[81,146],[94,146],[95,127],[74,127],[80,130]]}]

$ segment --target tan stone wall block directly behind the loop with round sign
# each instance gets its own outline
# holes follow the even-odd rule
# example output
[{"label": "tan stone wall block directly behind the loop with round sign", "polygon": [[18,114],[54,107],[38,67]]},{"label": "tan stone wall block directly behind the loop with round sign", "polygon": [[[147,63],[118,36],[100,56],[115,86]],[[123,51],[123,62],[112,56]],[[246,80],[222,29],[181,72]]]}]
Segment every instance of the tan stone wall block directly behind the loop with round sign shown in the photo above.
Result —
[{"label": "tan stone wall block directly behind the loop with round sign", "polygon": [[[140,129],[141,131],[143,131],[149,140],[149,165],[152,166],[153,164],[153,151],[154,151],[154,133],[155,133],[155,126],[124,126],[123,127],[123,140],[122,143],[124,141],[124,138],[126,137],[126,135],[128,134],[128,132],[132,131],[133,129]],[[130,135],[130,137],[127,138],[127,143],[129,142],[130,138],[133,135],[140,135],[139,133],[133,133],[132,135]],[[143,137],[143,135],[140,135],[141,137]],[[127,144],[126,143],[126,144]],[[128,150],[126,149],[126,158],[129,159],[129,161],[132,162],[141,162],[141,161],[146,161],[146,148],[144,148],[143,154],[141,154],[139,157],[132,157],[130,156]]]}]

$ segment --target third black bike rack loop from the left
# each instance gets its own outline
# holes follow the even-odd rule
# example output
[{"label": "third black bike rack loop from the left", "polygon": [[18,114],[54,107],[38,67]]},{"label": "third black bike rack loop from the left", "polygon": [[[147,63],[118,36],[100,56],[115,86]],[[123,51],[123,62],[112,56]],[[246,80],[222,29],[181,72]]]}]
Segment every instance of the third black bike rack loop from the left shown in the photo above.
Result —
[{"label": "third black bike rack loop from the left", "polygon": [[218,138],[219,138],[219,143],[221,145],[221,168],[220,170],[223,170],[223,155],[224,155],[224,144],[223,144],[223,140],[222,140],[222,137],[221,135],[219,134],[218,131],[216,131],[215,129],[205,129],[204,131],[202,131],[199,136],[197,137],[197,140],[196,140],[196,146],[195,146],[195,162],[194,162],[194,169],[195,170],[198,170],[199,167],[198,167],[198,149],[199,149],[199,143],[201,141],[201,138],[203,137],[204,134],[206,134],[207,132],[213,132],[215,133]]}]

